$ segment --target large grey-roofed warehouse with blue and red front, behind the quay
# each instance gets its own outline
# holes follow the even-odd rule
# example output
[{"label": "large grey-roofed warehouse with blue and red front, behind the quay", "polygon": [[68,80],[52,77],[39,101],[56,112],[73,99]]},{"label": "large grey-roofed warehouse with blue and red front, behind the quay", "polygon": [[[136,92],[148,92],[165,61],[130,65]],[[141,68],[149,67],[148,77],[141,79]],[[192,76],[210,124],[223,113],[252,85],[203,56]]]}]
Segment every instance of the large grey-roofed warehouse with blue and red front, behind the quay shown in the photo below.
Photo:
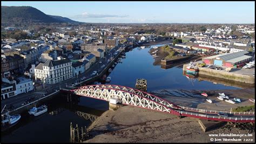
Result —
[{"label": "large grey-roofed warehouse with blue and red front, behind the quay", "polygon": [[225,53],[219,54],[214,56],[209,56],[203,58],[203,62],[206,64],[215,64],[217,66],[224,66],[224,67],[237,67],[237,64],[249,62],[252,60],[252,56],[248,56],[249,52],[241,51],[237,53]]}]

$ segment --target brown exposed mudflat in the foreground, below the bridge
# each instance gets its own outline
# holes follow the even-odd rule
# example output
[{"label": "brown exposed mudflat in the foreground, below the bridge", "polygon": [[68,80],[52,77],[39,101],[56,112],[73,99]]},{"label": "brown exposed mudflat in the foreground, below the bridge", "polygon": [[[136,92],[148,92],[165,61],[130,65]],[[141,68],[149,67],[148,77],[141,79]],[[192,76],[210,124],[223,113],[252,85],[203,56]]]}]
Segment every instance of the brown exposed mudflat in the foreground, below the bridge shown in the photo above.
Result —
[{"label": "brown exposed mudflat in the foreground, below the bridge", "polygon": [[[250,126],[254,127],[253,124]],[[205,133],[196,118],[178,118],[169,113],[129,105],[120,107],[117,111],[104,112],[88,130],[92,137],[85,142],[213,142],[215,138],[252,139],[250,142],[255,142],[254,128],[242,129],[227,124]],[[209,135],[248,133],[251,136],[242,136],[241,138],[239,136]],[[211,138],[214,138],[213,141]]]}]

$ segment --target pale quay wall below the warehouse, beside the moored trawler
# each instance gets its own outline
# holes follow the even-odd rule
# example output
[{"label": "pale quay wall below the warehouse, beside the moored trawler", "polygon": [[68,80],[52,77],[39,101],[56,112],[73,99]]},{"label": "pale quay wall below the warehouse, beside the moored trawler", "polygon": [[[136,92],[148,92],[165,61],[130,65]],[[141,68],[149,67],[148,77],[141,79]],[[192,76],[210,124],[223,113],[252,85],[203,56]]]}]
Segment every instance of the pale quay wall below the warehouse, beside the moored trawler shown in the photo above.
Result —
[{"label": "pale quay wall below the warehouse, beside the moored trawler", "polygon": [[[187,64],[183,65],[183,70],[186,71]],[[241,75],[241,74],[235,74],[227,71],[220,71],[215,69],[208,69],[208,68],[200,68],[199,67],[199,76],[200,75],[208,75],[218,78],[224,78],[226,80],[231,81],[237,81],[242,83],[250,83],[254,84],[255,79],[254,76],[248,76],[248,75]]]}]

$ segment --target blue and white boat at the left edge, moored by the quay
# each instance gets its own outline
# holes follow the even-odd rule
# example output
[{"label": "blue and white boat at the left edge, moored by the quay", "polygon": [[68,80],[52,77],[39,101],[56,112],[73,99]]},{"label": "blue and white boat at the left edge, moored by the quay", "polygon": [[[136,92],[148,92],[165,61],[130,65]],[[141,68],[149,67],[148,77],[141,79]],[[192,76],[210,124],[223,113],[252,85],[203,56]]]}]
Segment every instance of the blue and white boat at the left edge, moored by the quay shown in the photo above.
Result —
[{"label": "blue and white boat at the left edge, moored by the quay", "polygon": [[1,132],[6,131],[12,126],[15,126],[19,119],[21,119],[21,114],[14,114],[10,115],[9,112],[6,112],[5,114],[1,114],[2,116],[2,123],[1,123]]}]

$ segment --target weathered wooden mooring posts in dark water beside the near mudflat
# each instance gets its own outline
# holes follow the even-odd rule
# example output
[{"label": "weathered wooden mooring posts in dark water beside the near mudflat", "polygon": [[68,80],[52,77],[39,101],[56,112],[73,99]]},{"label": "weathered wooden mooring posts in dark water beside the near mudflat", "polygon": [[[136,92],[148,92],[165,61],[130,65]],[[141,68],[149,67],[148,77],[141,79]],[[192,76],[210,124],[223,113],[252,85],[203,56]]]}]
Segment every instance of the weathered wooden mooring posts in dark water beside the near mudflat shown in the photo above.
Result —
[{"label": "weathered wooden mooring posts in dark water beside the near mudflat", "polygon": [[83,142],[89,138],[89,133],[87,132],[86,126],[79,128],[76,124],[76,127],[73,127],[70,123],[70,142]]}]

